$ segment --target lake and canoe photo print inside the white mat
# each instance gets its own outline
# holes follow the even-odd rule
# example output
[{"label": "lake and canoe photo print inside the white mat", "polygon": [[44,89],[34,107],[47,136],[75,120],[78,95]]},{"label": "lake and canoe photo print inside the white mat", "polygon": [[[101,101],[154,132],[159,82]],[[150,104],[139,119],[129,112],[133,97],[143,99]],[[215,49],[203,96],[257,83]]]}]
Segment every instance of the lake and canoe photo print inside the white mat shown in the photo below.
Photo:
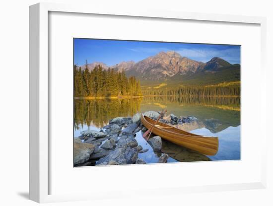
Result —
[{"label": "lake and canoe photo print inside the white mat", "polygon": [[74,166],[240,160],[240,45],[73,44]]}]

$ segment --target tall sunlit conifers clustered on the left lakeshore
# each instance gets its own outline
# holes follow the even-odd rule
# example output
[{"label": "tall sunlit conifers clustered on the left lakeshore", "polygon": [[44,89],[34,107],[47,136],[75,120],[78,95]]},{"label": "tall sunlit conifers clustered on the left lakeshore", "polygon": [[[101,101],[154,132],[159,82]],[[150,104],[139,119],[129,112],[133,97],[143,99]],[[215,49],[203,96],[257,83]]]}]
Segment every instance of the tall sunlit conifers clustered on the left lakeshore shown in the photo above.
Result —
[{"label": "tall sunlit conifers clustered on the left lakeshore", "polygon": [[127,77],[125,71],[103,69],[100,65],[89,71],[74,65],[74,96],[75,97],[111,97],[141,96],[139,80],[135,76]]}]

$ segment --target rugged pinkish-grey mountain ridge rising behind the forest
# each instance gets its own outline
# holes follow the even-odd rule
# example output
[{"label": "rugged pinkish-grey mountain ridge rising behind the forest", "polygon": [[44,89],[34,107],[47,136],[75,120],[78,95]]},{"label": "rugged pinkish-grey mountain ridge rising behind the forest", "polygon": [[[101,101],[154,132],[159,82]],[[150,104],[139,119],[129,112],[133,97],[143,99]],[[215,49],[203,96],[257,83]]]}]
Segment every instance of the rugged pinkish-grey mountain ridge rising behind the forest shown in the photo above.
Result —
[{"label": "rugged pinkish-grey mountain ridge rising behind the forest", "polygon": [[[107,66],[101,62],[94,62],[87,65],[89,71],[94,69],[95,66],[101,65],[104,69],[115,69],[118,71],[124,71],[128,76],[134,75],[140,81],[145,80],[172,80],[172,79],[200,79],[202,76],[213,81],[209,76],[214,76],[214,78],[221,77],[221,80],[229,79],[229,76],[223,77],[221,72],[225,75],[229,75],[229,71],[225,70],[231,68],[232,75],[235,74],[235,78],[232,80],[240,79],[240,65],[232,65],[227,61],[219,58],[213,57],[210,61],[203,63],[195,60],[191,60],[187,57],[182,57],[179,53],[175,51],[159,52],[154,56],[150,56],[144,60],[137,63],[134,61],[121,62],[114,66]],[[82,69],[85,68],[81,66]],[[231,71],[230,70],[230,71]],[[234,71],[235,70],[235,71]],[[218,73],[217,75],[210,73]],[[231,74],[230,74],[231,75]],[[218,81],[219,82],[219,81]]]}]

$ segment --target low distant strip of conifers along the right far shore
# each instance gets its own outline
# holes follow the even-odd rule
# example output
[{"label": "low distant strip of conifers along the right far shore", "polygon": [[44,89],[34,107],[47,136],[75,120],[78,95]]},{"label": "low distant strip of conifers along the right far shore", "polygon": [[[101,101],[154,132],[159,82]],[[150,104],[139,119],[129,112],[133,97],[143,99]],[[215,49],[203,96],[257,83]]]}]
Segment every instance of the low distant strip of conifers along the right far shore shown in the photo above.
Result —
[{"label": "low distant strip of conifers along the right far shore", "polygon": [[230,86],[183,86],[165,90],[143,90],[144,96],[240,96],[239,85]]}]

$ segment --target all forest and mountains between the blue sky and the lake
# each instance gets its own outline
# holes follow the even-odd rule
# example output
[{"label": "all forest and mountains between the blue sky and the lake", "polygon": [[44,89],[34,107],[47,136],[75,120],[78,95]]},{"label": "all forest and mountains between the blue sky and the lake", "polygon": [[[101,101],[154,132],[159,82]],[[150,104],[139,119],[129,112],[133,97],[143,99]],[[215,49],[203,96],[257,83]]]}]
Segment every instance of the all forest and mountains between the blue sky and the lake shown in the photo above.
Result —
[{"label": "all forest and mountains between the blue sky and the lake", "polygon": [[74,65],[74,97],[240,96],[241,66],[160,52],[137,63]]}]

